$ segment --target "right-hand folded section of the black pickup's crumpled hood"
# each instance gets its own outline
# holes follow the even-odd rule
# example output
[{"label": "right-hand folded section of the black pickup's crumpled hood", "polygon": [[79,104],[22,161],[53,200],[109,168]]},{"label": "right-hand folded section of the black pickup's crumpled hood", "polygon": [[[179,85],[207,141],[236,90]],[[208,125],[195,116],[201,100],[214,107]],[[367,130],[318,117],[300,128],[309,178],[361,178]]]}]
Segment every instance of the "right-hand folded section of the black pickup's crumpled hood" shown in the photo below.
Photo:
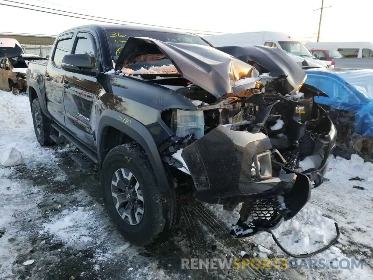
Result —
[{"label": "right-hand folded section of the black pickup's crumpled hood", "polygon": [[253,65],[260,74],[269,72],[273,78],[283,78],[278,88],[282,94],[295,93],[307,78],[298,63],[278,48],[227,46],[216,49]]}]

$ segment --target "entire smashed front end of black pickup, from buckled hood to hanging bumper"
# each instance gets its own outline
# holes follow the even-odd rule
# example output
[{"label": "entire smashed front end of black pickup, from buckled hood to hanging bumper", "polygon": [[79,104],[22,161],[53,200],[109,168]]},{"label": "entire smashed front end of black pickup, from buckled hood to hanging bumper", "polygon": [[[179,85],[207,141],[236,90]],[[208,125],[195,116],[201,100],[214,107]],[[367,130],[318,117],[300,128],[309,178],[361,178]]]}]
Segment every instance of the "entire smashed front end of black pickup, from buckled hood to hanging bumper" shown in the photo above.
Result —
[{"label": "entire smashed front end of black pickup, from buckled hood to hanging bumper", "polygon": [[131,37],[115,70],[194,104],[160,112],[172,136],[159,152],[183,174],[176,180],[191,179],[198,199],[229,211],[244,202],[231,234],[245,237],[307,203],[311,182],[323,183],[336,131],[313,101],[324,93],[304,84],[303,69],[281,50],[224,48]]}]

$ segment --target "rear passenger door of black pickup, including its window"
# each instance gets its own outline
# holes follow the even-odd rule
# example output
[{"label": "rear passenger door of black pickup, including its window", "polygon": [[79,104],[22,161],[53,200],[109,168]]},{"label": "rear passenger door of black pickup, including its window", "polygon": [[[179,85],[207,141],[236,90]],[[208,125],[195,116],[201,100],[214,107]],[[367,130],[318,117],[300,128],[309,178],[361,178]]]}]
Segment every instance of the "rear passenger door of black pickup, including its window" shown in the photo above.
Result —
[{"label": "rear passenger door of black pickup, including its window", "polygon": [[62,35],[57,41],[51,61],[48,63],[45,74],[45,87],[47,95],[47,108],[54,120],[65,125],[65,107],[62,95],[63,76],[66,71],[61,68],[65,55],[70,53],[73,34]]}]

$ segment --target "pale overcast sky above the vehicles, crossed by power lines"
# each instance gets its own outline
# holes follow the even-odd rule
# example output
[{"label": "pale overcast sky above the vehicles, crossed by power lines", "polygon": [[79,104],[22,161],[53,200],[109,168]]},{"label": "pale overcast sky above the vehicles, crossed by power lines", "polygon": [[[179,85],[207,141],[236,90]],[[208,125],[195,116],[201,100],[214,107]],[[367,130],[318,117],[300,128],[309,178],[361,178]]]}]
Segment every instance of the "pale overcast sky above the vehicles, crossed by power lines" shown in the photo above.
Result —
[{"label": "pale overcast sky above the vehicles, crossed by power lines", "polygon": [[[301,40],[316,41],[321,0],[15,0],[122,21],[218,32],[282,31]],[[182,4],[185,3],[185,4]],[[188,4],[186,4],[188,3]],[[373,1],[325,0],[320,41],[373,41],[369,30]],[[40,9],[31,7],[33,9]],[[0,5],[0,32],[57,35],[61,31],[94,21],[50,15]],[[96,22],[99,23],[100,22]],[[101,23],[104,24],[104,23]],[[368,28],[368,29],[367,29]]]}]

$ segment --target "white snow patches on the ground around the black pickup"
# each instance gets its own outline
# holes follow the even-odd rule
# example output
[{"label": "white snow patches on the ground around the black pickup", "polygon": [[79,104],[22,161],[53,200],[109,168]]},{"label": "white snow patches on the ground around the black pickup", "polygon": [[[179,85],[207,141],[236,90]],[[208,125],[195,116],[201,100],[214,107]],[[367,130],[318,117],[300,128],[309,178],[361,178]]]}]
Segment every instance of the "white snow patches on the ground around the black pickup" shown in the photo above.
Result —
[{"label": "white snow patches on the ground around the black pickup", "polygon": [[[37,168],[40,164],[57,163],[53,149],[40,147],[36,140],[27,96],[0,91],[0,127],[0,151],[15,147],[22,154],[23,164],[31,169]],[[36,206],[36,203],[30,203],[30,197],[34,195],[41,199],[46,195],[42,188],[34,186],[31,180],[7,178],[13,172],[13,168],[0,166],[0,228],[6,229],[0,238],[0,278],[12,276],[13,264],[18,259],[18,254],[22,250],[32,249],[32,245],[27,243],[29,233],[19,227],[17,219],[27,221],[29,218],[31,220],[40,218],[41,209]],[[339,242],[314,258],[324,258],[326,264],[331,259],[363,259],[363,269],[306,269],[302,273],[307,279],[315,280],[373,279],[371,269],[373,266],[373,164],[364,163],[359,156],[352,155],[350,161],[339,157],[332,158],[328,168],[325,176],[329,181],[313,189],[307,205],[293,219],[282,223],[273,232],[288,251],[295,254],[308,253],[325,246],[335,237],[334,222],[336,221],[341,228]],[[61,173],[59,176],[59,180],[63,180],[66,174]],[[349,181],[356,176],[364,178],[365,181]],[[353,188],[355,185],[364,187],[364,190]],[[31,195],[26,196],[26,194]],[[226,221],[227,227],[231,227],[238,220],[237,211],[232,215],[223,210],[221,205],[207,206],[218,218]],[[136,255],[136,250],[125,240],[113,239],[113,233],[107,230],[107,221],[105,222],[97,213],[98,211],[88,206],[64,209],[59,214],[44,220],[38,231],[43,231],[40,236],[48,235],[71,246],[104,244],[102,242],[109,240],[111,234],[110,238],[115,241],[113,248],[125,248],[123,250],[126,252],[132,248],[132,254]],[[10,242],[10,237],[15,238],[15,241]],[[254,244],[257,248],[253,253],[254,256],[269,254],[271,257],[278,258],[286,256],[268,233],[248,237],[245,242]],[[116,249],[108,251],[115,254]],[[96,259],[107,258],[110,256],[102,252],[100,258]],[[31,259],[22,259],[21,263],[28,261],[31,262]],[[39,263],[38,259],[34,262]],[[100,269],[100,265],[95,264],[96,266]],[[153,273],[146,269],[138,271],[140,270],[131,271],[134,273],[133,279],[141,279],[144,274],[149,276]],[[163,274],[163,270],[157,270],[157,276]]]}]

